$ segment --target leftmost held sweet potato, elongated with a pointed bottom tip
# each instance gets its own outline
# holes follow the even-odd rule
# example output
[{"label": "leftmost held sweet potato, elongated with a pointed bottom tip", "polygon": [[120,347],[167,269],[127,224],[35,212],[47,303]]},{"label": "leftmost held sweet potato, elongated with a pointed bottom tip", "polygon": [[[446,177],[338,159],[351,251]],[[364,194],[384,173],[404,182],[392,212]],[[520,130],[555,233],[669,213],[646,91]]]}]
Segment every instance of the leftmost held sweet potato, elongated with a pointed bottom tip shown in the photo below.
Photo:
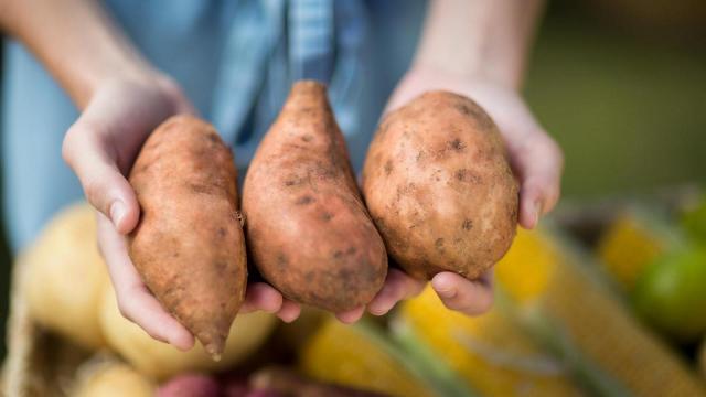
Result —
[{"label": "leftmost held sweet potato, elongated with a pointed bottom tip", "polygon": [[247,279],[236,172],[213,126],[175,116],[147,139],[130,173],[142,211],[130,258],[150,291],[214,357]]}]

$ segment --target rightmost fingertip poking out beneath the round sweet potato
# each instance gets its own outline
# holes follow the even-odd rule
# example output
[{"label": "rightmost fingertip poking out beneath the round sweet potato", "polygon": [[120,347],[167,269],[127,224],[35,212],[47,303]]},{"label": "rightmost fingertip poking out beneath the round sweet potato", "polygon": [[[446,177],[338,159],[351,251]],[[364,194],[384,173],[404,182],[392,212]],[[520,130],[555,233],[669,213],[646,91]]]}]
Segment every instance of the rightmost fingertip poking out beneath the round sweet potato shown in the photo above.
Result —
[{"label": "rightmost fingertip poking out beneath the round sweet potato", "polygon": [[488,277],[468,280],[446,271],[431,279],[431,287],[447,308],[468,315],[482,314],[493,304],[492,282]]}]

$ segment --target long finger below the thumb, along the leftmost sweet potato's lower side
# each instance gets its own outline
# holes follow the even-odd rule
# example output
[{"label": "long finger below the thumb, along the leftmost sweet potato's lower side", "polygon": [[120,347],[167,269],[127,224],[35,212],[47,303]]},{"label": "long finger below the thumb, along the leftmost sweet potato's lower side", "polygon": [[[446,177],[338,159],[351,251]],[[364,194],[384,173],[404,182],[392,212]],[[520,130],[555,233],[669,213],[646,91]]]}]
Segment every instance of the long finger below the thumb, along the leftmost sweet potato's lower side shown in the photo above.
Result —
[{"label": "long finger below the thumb, along the leftmost sweet potato's lower side", "polygon": [[98,214],[98,217],[99,247],[122,315],[153,339],[182,351],[190,350],[194,345],[193,335],[149,292],[127,255],[125,238],[115,232],[104,215]]}]

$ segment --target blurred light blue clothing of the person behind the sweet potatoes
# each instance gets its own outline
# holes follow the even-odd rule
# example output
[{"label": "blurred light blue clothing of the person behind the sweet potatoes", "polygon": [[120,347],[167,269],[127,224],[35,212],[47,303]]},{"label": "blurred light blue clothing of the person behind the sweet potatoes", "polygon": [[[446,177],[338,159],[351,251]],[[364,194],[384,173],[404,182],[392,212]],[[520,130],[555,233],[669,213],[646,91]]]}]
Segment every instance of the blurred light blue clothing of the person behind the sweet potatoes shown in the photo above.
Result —
[{"label": "blurred light blue clothing of the person behind the sweet potatoes", "polygon": [[[300,78],[328,84],[359,169],[425,11],[422,0],[107,0],[105,7],[231,143],[240,174]],[[78,114],[20,44],[6,43],[4,62],[3,205],[18,249],[82,197],[61,159]]]}]

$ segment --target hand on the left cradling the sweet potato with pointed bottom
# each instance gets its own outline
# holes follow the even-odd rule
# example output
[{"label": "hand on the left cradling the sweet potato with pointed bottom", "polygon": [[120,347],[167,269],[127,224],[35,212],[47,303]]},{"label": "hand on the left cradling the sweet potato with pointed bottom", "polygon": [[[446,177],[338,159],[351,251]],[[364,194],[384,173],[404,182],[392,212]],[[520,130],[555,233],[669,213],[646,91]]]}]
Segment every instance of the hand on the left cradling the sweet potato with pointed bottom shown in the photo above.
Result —
[{"label": "hand on the left cradling the sweet potato with pointed bottom", "polygon": [[[181,350],[194,344],[142,282],[127,253],[125,235],[140,217],[127,175],[149,133],[170,116],[194,112],[179,86],[157,73],[100,84],[64,138],[62,154],[76,172],[90,204],[99,211],[98,246],[108,266],[120,312],[152,337]],[[274,288],[248,286],[240,312],[264,310],[285,321],[299,315]]]}]

